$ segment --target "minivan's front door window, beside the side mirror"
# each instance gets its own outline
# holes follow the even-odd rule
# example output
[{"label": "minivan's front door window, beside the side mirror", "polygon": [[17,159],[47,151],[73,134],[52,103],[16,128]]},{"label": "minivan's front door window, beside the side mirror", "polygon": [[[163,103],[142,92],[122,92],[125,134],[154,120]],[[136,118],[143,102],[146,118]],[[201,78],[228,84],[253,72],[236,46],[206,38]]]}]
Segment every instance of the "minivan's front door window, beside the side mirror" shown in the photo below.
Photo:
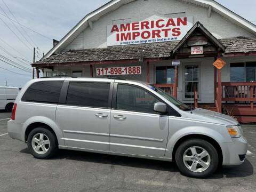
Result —
[{"label": "minivan's front door window, beside the side mirror", "polygon": [[139,87],[122,84],[117,87],[116,109],[157,114],[154,111],[157,102],[160,101]]}]

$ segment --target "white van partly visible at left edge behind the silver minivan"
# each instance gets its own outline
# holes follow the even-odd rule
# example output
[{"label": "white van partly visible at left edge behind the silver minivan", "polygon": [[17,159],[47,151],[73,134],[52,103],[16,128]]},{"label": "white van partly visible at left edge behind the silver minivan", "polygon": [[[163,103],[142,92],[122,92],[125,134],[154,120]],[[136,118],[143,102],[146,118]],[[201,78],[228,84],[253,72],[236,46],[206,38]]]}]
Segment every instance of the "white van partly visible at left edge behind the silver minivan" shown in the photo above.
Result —
[{"label": "white van partly visible at left edge behind the silver minivan", "polygon": [[13,103],[18,93],[18,87],[0,86],[0,110],[12,112]]}]

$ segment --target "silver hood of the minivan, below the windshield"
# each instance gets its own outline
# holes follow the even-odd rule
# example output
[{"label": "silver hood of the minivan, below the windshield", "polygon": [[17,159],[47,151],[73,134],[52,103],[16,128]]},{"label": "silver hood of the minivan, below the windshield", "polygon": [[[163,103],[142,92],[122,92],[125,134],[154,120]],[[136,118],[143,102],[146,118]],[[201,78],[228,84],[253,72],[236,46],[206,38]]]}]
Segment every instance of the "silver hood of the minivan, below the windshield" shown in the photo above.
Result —
[{"label": "silver hood of the minivan, below the windshield", "polygon": [[[189,112],[190,113],[190,112]],[[206,121],[209,123],[217,123],[217,124],[224,124],[224,125],[238,125],[239,123],[232,117],[228,115],[224,115],[221,113],[217,113],[214,111],[196,108],[192,111],[194,119],[198,119],[198,121]]]}]

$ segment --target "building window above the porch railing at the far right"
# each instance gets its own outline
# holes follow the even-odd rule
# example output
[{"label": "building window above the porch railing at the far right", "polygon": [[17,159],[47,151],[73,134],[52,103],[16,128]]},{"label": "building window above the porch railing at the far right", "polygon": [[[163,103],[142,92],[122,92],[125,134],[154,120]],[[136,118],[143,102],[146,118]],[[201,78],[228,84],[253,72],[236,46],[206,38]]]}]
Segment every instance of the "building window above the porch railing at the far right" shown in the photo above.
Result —
[{"label": "building window above the porch railing at the far right", "polygon": [[230,63],[230,82],[255,82],[256,62]]}]

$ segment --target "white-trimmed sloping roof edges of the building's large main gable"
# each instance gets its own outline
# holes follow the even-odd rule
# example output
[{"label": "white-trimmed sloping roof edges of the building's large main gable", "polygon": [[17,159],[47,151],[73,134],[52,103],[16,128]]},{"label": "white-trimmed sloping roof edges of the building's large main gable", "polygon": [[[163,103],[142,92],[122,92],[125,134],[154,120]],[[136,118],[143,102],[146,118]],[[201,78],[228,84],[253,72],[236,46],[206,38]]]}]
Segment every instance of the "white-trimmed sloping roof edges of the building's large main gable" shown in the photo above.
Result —
[{"label": "white-trimmed sloping roof edges of the building's large main gable", "polygon": [[[89,27],[91,22],[98,21],[103,15],[113,12],[122,5],[131,3],[136,0],[112,0],[108,2],[107,4],[99,7],[99,9],[87,14],[81,21],[77,23],[77,25],[71,29],[61,40],[60,42],[54,46],[48,53],[45,54],[45,56],[42,59],[50,57],[54,53],[61,53],[65,47],[71,43],[84,29]],[[256,35],[256,26],[253,25],[253,23],[247,21],[246,19],[240,17],[236,13],[228,10],[226,7],[222,6],[221,4],[213,1],[213,0],[179,0],[191,4],[196,4],[199,6],[203,6],[209,9],[212,9],[213,11],[219,13],[223,17],[233,21],[238,26],[241,26],[242,28],[246,29],[247,31],[250,31],[251,33]]]}]

